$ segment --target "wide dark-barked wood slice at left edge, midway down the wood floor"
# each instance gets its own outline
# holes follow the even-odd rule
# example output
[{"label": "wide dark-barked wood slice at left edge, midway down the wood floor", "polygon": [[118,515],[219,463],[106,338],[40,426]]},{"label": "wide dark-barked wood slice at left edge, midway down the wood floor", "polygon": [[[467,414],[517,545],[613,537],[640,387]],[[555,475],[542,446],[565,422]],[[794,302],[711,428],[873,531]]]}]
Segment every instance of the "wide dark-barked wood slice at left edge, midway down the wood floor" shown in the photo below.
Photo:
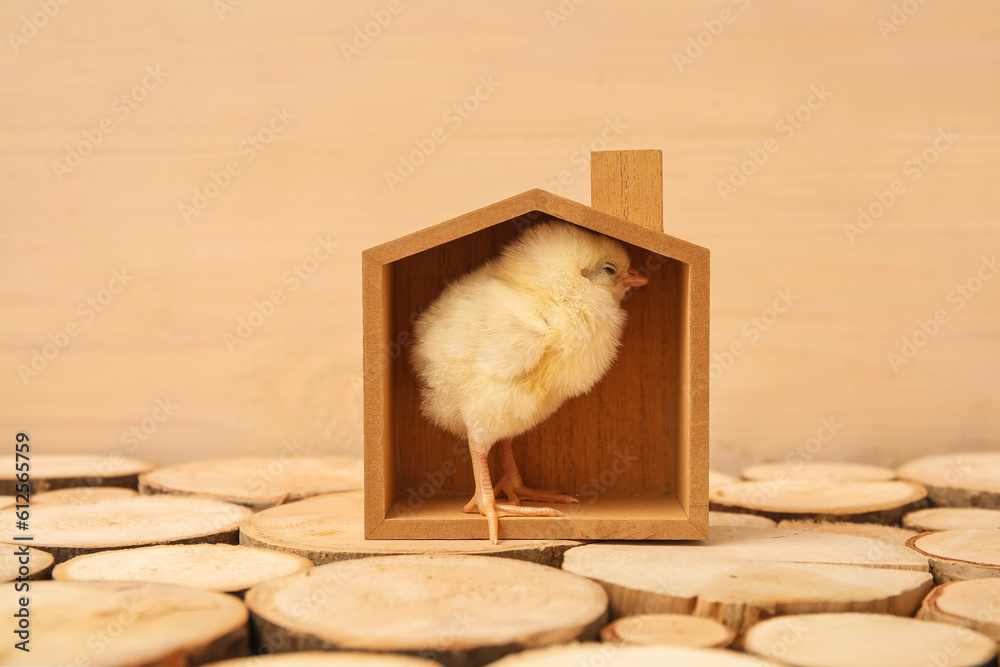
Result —
[{"label": "wide dark-barked wood slice at left edge, midway down the wood floor", "polygon": [[[154,544],[224,542],[235,544],[246,507],[210,498],[137,497],[89,505],[33,507],[29,530],[15,531],[13,514],[7,535],[25,534],[30,544],[51,553],[56,563],[75,556]],[[10,538],[0,534],[0,542]]]}]

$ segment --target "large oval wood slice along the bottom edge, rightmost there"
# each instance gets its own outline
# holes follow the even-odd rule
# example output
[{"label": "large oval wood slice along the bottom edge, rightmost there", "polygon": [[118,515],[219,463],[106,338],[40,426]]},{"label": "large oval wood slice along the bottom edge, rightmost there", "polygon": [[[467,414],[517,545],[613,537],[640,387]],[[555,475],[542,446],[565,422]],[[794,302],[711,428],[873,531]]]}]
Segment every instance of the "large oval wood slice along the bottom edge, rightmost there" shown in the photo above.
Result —
[{"label": "large oval wood slice along the bottom edge, rightmost there", "polygon": [[989,637],[946,623],[884,614],[809,614],[764,621],[745,649],[795,667],[987,667]]}]

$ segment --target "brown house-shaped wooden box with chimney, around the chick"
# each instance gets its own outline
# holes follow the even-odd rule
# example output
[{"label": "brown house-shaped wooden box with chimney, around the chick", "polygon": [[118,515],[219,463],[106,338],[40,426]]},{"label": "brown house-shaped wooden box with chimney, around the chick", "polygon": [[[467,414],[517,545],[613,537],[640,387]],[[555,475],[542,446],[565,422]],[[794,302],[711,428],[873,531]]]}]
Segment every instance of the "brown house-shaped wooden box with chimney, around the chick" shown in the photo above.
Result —
[{"label": "brown house-shaped wooden box with chimney, around the chick", "polygon": [[486,519],[462,512],[475,489],[466,442],[420,414],[413,322],[449,281],[551,219],[618,239],[650,281],[624,303],[629,321],[608,375],[514,440],[529,486],[580,504],[559,505],[563,517],[501,518],[500,539],[708,536],[709,253],[662,232],[661,159],[594,153],[593,206],[529,190],[364,252],[369,539],[487,538]]}]

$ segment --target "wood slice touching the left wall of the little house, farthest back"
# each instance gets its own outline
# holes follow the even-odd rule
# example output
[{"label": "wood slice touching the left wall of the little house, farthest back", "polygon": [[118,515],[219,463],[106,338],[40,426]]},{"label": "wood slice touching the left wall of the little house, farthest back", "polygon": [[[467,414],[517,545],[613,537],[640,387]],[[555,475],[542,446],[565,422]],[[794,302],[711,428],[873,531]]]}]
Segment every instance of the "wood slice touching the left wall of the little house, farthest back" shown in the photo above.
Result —
[{"label": "wood slice touching the left wall of the little house, farthest back", "polygon": [[255,510],[362,486],[363,462],[347,456],[206,459],[157,468],[139,479],[140,493],[211,496]]}]

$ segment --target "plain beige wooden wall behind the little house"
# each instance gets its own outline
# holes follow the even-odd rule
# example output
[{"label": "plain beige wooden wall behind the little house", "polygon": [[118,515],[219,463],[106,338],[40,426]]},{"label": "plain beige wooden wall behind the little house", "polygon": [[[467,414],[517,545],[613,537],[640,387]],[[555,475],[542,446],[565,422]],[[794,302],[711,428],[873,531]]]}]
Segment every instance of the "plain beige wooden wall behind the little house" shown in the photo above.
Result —
[{"label": "plain beige wooden wall behind the little house", "polygon": [[995,0],[4,0],[0,28],[0,440],[360,453],[361,250],[589,202],[607,147],[662,148],[667,231],[712,250],[715,467],[1000,443]]}]

